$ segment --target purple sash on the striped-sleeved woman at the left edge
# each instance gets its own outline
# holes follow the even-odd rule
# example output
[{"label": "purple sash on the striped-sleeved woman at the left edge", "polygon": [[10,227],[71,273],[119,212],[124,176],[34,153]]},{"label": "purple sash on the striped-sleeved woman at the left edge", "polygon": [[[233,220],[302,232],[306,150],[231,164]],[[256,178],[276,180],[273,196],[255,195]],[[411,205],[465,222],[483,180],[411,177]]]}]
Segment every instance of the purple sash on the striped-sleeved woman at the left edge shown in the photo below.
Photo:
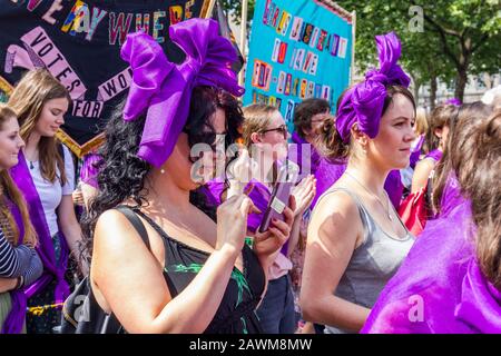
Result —
[{"label": "purple sash on the striped-sleeved woman at the left edge", "polygon": [[[14,205],[10,199],[6,198],[6,202],[12,214],[16,225],[19,230],[18,245],[22,245],[24,236],[24,224],[22,224],[21,211],[17,205]],[[26,320],[26,306],[27,298],[24,291],[21,289],[10,290],[11,309],[6,320],[3,322],[1,334],[20,334]]]}]

